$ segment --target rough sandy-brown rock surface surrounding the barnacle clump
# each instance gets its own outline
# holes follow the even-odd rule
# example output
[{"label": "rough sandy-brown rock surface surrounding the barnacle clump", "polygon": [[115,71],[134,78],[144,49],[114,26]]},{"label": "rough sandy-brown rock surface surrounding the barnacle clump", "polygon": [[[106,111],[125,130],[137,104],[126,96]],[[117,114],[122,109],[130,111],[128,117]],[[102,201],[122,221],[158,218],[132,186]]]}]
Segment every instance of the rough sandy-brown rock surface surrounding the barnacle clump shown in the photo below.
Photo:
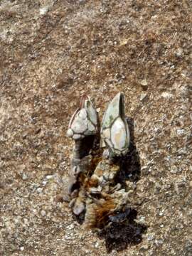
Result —
[{"label": "rough sandy-brown rock surface surrounding the barnacle clump", "polygon": [[[191,10],[190,0],[0,1],[0,255],[192,255]],[[107,237],[63,202],[65,132],[80,95],[102,117],[119,91],[137,218]]]}]

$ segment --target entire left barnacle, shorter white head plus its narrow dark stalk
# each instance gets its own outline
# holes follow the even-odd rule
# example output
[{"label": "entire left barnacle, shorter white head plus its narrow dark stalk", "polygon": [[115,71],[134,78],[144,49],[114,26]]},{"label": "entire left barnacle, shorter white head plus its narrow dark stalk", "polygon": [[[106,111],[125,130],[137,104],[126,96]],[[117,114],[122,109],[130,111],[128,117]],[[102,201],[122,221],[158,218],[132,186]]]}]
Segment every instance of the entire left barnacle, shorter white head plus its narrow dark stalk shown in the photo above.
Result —
[{"label": "entire left barnacle, shorter white head plus its narrow dark stalk", "polygon": [[84,192],[79,189],[82,185],[82,176],[86,176],[91,162],[90,149],[92,149],[95,135],[98,132],[98,118],[95,107],[90,98],[82,95],[80,108],[75,111],[70,119],[68,137],[74,139],[73,154],[71,159],[71,182],[68,192],[72,198],[71,208],[75,214],[84,210]]}]

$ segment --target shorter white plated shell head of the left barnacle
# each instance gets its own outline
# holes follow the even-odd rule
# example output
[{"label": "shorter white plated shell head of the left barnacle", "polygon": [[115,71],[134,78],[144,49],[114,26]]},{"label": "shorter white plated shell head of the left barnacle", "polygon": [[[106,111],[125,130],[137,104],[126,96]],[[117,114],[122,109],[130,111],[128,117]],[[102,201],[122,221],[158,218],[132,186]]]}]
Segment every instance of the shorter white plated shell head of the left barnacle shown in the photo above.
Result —
[{"label": "shorter white plated shell head of the left barnacle", "polygon": [[75,110],[70,119],[67,135],[73,139],[82,139],[96,133],[97,112],[90,98],[87,95],[82,95],[80,108]]}]

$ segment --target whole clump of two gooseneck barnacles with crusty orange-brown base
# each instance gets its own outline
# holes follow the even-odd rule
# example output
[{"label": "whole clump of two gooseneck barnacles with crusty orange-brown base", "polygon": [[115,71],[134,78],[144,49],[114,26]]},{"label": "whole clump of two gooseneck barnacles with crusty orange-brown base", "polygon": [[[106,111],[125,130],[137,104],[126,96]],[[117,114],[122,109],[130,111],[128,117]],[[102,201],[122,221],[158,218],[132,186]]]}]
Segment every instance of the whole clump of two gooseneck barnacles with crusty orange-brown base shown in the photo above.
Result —
[{"label": "whole clump of two gooseneck barnacles with crusty orange-brown base", "polygon": [[110,102],[101,125],[90,97],[82,95],[67,134],[75,142],[68,186],[73,213],[85,213],[88,228],[102,229],[123,221],[129,214],[129,191],[122,188],[116,177],[130,140],[124,94],[119,92]]}]

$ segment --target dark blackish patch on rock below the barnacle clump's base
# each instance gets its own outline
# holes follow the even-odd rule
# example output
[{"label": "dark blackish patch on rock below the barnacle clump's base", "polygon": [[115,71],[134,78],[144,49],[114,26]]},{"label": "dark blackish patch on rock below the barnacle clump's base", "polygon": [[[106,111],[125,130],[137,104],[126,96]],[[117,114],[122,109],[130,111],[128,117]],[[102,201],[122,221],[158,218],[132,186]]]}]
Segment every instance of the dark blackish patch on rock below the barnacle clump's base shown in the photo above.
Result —
[{"label": "dark blackish patch on rock below the barnacle clump's base", "polygon": [[142,242],[142,234],[146,232],[146,226],[136,223],[137,210],[132,209],[127,221],[124,223],[112,223],[110,227],[103,229],[99,238],[105,239],[107,252],[112,250],[122,251],[128,245],[137,245]]}]

